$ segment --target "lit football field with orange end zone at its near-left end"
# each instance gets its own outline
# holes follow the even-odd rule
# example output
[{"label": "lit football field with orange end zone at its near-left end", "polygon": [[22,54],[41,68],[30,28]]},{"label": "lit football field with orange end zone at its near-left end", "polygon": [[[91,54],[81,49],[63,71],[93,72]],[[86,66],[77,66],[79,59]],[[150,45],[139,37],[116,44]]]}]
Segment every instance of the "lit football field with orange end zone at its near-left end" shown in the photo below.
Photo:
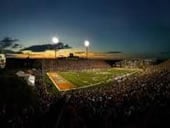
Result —
[{"label": "lit football field with orange end zone at its near-left end", "polygon": [[81,71],[49,72],[48,76],[59,91],[104,85],[114,78],[129,75],[137,70],[130,69],[93,69]]}]

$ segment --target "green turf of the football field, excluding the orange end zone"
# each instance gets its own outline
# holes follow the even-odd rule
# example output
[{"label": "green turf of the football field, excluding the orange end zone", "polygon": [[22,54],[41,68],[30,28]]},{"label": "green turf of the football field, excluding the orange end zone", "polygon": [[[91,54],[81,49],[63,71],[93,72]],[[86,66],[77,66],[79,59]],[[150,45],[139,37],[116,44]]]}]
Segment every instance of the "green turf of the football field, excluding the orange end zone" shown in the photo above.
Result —
[{"label": "green turf of the football field, excluding the orange end zone", "polygon": [[101,85],[113,81],[113,78],[124,74],[132,73],[134,70],[128,69],[95,69],[83,71],[58,72],[64,79],[70,81],[77,87]]}]

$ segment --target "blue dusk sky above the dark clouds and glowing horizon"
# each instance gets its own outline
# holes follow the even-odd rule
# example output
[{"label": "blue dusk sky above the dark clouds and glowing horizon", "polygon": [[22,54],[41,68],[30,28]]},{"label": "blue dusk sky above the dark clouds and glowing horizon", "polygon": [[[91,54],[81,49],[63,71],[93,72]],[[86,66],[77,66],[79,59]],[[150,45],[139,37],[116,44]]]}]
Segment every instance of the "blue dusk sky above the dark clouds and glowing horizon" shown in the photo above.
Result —
[{"label": "blue dusk sky above the dark clouds and glowing horizon", "polygon": [[72,47],[91,42],[96,51],[170,51],[169,0],[1,0],[0,39],[24,46],[52,43]]}]

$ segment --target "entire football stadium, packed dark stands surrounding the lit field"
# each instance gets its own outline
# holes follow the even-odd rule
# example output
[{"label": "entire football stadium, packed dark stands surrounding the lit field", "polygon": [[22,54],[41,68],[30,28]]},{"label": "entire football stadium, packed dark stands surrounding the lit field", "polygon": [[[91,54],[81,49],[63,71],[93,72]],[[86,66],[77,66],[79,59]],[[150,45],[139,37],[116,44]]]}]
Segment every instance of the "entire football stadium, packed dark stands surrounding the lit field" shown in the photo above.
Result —
[{"label": "entire football stadium, packed dark stands surrounding the lit field", "polygon": [[[5,126],[126,128],[168,124],[169,60],[68,56],[7,57],[6,62],[1,73],[8,75],[1,76],[2,83],[11,89],[15,85],[16,91],[23,93],[13,92],[12,99],[20,102],[20,107],[11,106],[11,101],[10,106],[3,103]],[[29,86],[27,75],[24,79],[21,73],[16,75],[19,70],[35,76],[35,83]],[[6,115],[9,111],[18,119]],[[7,123],[10,119],[15,122]]]}]

